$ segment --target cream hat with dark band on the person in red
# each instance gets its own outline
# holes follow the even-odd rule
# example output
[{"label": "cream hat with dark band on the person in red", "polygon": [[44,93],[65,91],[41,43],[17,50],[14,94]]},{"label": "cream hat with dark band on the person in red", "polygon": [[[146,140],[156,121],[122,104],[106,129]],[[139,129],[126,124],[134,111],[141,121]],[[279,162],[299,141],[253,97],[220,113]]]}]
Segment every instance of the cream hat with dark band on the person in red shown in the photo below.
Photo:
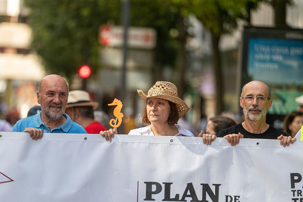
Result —
[{"label": "cream hat with dark band on the person in red", "polygon": [[84,106],[92,106],[93,110],[95,110],[99,106],[99,103],[91,101],[89,98],[89,93],[86,91],[76,90],[68,92],[68,101],[66,108]]}]

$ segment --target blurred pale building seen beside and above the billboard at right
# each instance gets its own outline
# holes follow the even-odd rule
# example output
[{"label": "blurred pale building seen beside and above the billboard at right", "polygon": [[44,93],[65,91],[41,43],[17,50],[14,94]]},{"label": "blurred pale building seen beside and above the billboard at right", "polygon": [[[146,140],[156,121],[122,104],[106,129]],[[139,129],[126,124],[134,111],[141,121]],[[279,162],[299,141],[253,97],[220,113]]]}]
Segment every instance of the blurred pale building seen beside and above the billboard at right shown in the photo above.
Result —
[{"label": "blurred pale building seen beside and above the billboard at right", "polygon": [[[275,27],[274,9],[268,3],[261,2],[258,9],[251,11],[251,25],[259,27]],[[290,28],[303,29],[303,0],[293,0],[286,7],[286,23]],[[220,41],[224,81],[225,109],[237,111],[238,98],[241,94],[241,40],[244,22],[239,22],[239,28],[232,35],[224,35]],[[236,78],[236,79],[235,79]]]}]

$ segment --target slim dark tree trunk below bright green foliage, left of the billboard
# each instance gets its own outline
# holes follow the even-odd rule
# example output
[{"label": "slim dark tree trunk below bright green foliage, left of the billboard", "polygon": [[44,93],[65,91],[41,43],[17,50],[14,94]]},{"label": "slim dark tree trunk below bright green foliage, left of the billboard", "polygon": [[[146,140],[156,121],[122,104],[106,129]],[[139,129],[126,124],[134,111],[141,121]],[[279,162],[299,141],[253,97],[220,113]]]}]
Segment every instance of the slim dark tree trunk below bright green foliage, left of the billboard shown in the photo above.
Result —
[{"label": "slim dark tree trunk below bright green foliage, left of the billboard", "polygon": [[222,73],[221,73],[221,55],[219,51],[219,40],[220,35],[215,34],[211,31],[211,44],[212,44],[212,64],[215,71],[215,78],[216,78],[216,114],[219,115],[223,111],[223,81],[222,81]]}]

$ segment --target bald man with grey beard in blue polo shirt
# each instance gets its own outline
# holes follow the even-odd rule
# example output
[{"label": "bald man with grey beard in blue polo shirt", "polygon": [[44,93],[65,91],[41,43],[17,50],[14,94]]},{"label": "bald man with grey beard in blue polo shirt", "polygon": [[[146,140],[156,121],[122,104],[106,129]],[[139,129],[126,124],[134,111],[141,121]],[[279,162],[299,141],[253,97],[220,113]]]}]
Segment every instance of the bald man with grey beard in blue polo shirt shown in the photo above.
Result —
[{"label": "bald man with grey beard in blue polo shirt", "polygon": [[37,102],[41,111],[23,118],[14,125],[12,132],[28,132],[33,140],[45,133],[87,133],[64,113],[68,99],[68,84],[59,75],[48,75],[38,85]]}]

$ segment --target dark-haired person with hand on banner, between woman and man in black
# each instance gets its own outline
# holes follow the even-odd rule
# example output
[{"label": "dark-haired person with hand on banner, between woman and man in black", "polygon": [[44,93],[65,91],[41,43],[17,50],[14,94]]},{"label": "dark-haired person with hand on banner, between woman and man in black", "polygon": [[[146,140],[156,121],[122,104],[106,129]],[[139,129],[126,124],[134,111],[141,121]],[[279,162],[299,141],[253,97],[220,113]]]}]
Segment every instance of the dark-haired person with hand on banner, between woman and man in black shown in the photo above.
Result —
[{"label": "dark-haired person with hand on banner, between woman and man in black", "polygon": [[224,116],[215,116],[209,119],[205,134],[199,134],[199,137],[202,135],[203,144],[211,145],[211,142],[215,137],[217,137],[218,133],[225,128],[231,127],[236,125],[236,122],[231,118],[224,117]]}]

